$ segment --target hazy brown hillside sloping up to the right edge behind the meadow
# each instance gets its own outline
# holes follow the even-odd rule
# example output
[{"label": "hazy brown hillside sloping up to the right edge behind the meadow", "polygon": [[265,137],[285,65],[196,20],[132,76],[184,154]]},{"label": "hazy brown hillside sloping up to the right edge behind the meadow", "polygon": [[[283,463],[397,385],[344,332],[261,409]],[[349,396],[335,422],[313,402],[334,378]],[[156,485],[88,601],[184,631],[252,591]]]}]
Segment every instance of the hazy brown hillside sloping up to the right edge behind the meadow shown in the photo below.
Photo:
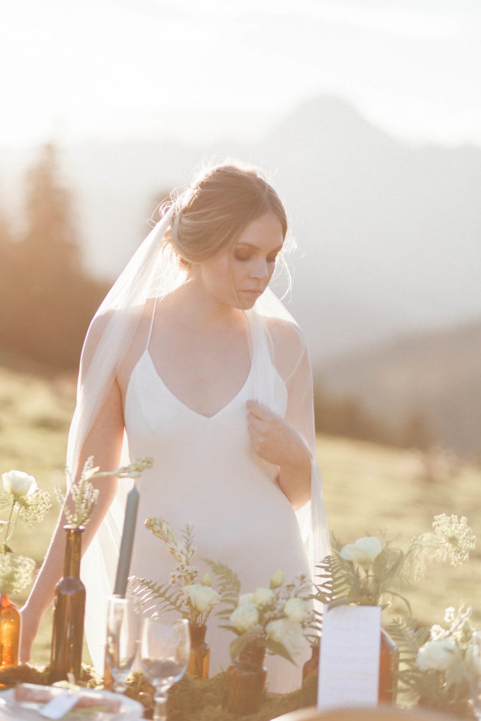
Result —
[{"label": "hazy brown hillside sloping up to the right edge behind the meadow", "polygon": [[391,428],[402,428],[412,412],[421,412],[433,442],[479,459],[480,354],[476,320],[335,358],[318,375],[327,394],[359,399]]}]

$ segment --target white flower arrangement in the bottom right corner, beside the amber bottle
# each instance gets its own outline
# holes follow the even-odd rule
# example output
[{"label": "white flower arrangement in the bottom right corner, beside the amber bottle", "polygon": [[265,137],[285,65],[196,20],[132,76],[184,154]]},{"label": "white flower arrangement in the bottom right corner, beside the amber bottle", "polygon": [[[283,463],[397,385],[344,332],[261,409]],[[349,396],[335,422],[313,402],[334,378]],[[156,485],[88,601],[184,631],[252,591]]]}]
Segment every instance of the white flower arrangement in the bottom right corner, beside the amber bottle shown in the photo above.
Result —
[{"label": "white flower arrangement in the bottom right corner, beside the amber bottle", "polygon": [[398,619],[389,634],[400,650],[398,681],[405,699],[456,715],[467,712],[470,698],[474,629],[472,609],[450,607],[444,624],[420,626],[415,619]]}]

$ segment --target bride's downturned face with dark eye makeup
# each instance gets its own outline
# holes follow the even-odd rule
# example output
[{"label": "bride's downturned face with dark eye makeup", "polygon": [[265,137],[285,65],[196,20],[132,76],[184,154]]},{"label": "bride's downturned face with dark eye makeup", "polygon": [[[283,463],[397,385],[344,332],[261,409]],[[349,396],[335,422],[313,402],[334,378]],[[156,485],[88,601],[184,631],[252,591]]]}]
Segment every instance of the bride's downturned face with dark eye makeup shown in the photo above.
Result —
[{"label": "bride's downturned face with dark eye makeup", "polygon": [[201,262],[196,275],[216,301],[247,310],[267,288],[282,245],[281,222],[266,213],[244,229],[233,249]]}]

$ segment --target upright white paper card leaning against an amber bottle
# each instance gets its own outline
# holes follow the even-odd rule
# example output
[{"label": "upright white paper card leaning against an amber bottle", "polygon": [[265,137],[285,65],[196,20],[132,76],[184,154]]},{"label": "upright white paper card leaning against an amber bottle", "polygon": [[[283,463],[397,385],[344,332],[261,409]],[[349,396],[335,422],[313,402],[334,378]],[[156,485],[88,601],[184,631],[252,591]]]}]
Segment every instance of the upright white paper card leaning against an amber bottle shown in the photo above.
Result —
[{"label": "upright white paper card leaning against an amber bottle", "polygon": [[381,608],[337,606],[322,617],[319,709],[374,707],[378,701]]}]

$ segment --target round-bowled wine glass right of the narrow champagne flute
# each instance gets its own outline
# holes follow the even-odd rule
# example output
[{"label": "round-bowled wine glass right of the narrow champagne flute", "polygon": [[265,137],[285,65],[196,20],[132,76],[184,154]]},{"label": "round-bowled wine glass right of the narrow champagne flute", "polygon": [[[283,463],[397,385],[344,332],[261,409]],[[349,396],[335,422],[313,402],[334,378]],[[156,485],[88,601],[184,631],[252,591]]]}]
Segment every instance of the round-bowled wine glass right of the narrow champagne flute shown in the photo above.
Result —
[{"label": "round-bowled wine glass right of the narrow champagne flute", "polygon": [[141,671],[155,688],[154,721],[167,721],[169,688],[180,681],[189,663],[188,621],[168,621],[159,614],[144,618],[140,655]]}]

